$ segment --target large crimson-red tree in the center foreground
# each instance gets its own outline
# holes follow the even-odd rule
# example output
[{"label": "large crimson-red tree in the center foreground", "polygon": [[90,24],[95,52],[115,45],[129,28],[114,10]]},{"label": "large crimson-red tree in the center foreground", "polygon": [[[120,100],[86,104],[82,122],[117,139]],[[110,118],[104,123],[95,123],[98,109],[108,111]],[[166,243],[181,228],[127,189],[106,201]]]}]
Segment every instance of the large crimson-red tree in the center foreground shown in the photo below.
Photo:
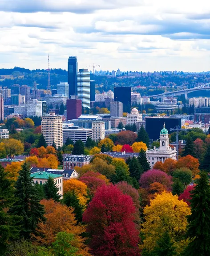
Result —
[{"label": "large crimson-red tree in the center foreground", "polygon": [[136,208],[117,186],[101,186],[83,214],[95,256],[139,256]]}]

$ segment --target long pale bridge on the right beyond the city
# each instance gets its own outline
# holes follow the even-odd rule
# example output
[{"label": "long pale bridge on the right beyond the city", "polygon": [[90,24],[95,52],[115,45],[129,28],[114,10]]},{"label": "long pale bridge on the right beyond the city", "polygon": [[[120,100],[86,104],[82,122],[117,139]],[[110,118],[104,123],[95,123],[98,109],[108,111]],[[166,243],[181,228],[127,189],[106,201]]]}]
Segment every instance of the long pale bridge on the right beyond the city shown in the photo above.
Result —
[{"label": "long pale bridge on the right beyond the city", "polygon": [[202,91],[202,90],[210,90],[210,83],[202,84],[197,87],[190,88],[190,89],[184,89],[184,90],[174,91],[174,92],[164,92],[161,94],[152,95],[152,96],[150,96],[150,98],[160,98],[160,97],[164,97],[164,96],[179,96],[179,95],[185,94],[185,98],[187,99],[188,93]]}]

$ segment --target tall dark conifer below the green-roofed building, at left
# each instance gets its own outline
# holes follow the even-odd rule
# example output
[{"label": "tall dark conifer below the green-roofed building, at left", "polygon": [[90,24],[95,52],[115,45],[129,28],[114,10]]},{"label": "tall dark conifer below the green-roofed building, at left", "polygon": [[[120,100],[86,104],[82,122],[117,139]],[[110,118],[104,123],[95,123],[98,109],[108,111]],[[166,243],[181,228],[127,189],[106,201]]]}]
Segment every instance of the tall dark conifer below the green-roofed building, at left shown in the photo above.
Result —
[{"label": "tall dark conifer below the green-roofed building, at left", "polygon": [[20,234],[26,239],[35,232],[37,223],[45,220],[44,206],[40,205],[38,193],[30,174],[28,164],[24,163],[15,185],[17,200],[9,210],[9,213],[22,217],[18,222],[21,225]]}]

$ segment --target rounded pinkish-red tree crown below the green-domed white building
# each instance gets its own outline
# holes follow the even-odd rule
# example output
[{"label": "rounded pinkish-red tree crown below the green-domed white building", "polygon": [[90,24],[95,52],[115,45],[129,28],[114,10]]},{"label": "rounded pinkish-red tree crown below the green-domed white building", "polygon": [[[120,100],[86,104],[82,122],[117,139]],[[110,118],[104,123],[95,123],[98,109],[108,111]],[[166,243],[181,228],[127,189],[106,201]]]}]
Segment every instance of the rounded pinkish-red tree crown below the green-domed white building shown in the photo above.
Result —
[{"label": "rounded pinkish-red tree crown below the green-domed white building", "polygon": [[172,177],[167,175],[166,172],[162,172],[160,170],[152,169],[144,172],[141,175],[141,179],[139,180],[139,184],[142,188],[149,188],[150,184],[154,182],[158,182],[162,185],[165,185],[168,190],[171,190],[172,185]]}]

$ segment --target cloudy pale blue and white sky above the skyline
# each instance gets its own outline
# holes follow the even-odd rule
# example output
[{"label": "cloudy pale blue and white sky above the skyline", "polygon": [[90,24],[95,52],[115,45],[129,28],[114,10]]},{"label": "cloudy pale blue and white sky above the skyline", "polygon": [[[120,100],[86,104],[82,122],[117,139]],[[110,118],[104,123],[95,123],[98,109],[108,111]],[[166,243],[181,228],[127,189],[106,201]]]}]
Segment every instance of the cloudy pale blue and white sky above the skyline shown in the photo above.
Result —
[{"label": "cloudy pale blue and white sky above the skyline", "polygon": [[208,0],[0,0],[0,68],[210,71]]}]

